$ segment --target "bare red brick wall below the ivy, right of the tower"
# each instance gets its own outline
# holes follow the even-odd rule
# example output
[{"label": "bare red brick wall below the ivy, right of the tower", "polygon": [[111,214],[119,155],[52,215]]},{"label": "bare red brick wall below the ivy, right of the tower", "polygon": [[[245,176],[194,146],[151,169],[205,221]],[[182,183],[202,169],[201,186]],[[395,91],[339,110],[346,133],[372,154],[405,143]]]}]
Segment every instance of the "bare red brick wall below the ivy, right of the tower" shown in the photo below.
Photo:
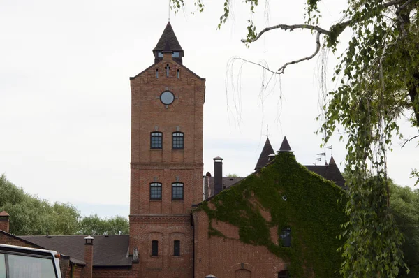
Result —
[{"label": "bare red brick wall below the ivy, right of the tower", "polygon": [[[208,217],[205,212],[194,212],[195,277],[265,277],[276,278],[286,263],[266,247],[244,244],[237,239],[208,237]],[[237,227],[218,221],[214,226],[223,234],[239,238]]]}]

